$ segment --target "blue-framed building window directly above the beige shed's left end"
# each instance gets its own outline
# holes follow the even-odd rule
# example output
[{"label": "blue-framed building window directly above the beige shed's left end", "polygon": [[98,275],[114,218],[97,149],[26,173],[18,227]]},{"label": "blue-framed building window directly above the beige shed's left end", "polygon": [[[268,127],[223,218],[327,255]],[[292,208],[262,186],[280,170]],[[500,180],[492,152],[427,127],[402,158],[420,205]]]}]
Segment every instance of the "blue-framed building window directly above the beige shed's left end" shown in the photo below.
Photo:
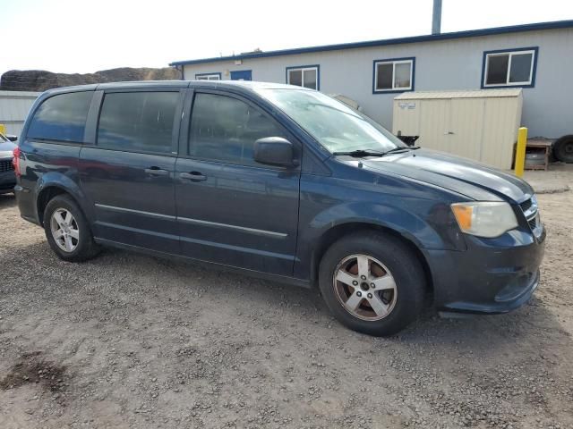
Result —
[{"label": "blue-framed building window directly above the beige shed's left end", "polygon": [[373,92],[414,90],[415,58],[374,61]]}]

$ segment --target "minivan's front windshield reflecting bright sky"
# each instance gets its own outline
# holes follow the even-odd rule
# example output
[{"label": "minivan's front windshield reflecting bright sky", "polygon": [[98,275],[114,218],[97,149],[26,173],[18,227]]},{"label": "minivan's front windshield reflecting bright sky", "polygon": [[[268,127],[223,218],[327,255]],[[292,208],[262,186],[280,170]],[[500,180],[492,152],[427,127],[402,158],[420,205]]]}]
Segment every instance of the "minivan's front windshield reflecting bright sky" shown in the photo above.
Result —
[{"label": "minivan's front windshield reflecting bright sky", "polygon": [[330,153],[383,153],[396,147],[407,148],[369,117],[321,92],[290,88],[261,88],[258,92]]}]

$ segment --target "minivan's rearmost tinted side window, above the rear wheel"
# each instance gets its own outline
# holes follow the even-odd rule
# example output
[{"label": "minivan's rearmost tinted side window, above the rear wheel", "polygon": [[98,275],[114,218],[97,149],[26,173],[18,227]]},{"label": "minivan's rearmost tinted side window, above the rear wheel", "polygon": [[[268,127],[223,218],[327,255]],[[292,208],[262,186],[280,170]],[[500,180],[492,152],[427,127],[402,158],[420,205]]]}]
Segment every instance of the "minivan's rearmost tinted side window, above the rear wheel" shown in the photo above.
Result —
[{"label": "minivan's rearmost tinted side window, above the rear wheel", "polygon": [[71,92],[47,98],[30,122],[28,137],[82,142],[92,94]]}]

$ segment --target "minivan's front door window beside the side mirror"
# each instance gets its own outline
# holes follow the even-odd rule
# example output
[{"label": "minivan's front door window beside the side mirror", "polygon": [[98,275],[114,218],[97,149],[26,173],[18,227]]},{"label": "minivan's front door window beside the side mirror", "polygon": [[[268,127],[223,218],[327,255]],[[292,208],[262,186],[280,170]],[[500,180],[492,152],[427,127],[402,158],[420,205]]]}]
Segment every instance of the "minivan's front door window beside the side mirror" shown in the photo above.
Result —
[{"label": "minivan's front door window beside the side mirror", "polygon": [[193,102],[188,155],[229,164],[258,165],[255,140],[285,137],[275,122],[241,100],[197,94]]}]

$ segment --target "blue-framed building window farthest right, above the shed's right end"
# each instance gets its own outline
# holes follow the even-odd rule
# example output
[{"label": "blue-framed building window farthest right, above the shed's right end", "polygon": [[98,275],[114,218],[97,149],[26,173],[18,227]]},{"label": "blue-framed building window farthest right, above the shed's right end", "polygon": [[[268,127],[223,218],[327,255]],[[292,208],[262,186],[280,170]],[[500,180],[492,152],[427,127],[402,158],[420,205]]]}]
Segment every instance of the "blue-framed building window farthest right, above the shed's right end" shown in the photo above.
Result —
[{"label": "blue-framed building window farthest right, above the shed's right end", "polygon": [[533,87],[537,48],[483,53],[482,88]]}]

